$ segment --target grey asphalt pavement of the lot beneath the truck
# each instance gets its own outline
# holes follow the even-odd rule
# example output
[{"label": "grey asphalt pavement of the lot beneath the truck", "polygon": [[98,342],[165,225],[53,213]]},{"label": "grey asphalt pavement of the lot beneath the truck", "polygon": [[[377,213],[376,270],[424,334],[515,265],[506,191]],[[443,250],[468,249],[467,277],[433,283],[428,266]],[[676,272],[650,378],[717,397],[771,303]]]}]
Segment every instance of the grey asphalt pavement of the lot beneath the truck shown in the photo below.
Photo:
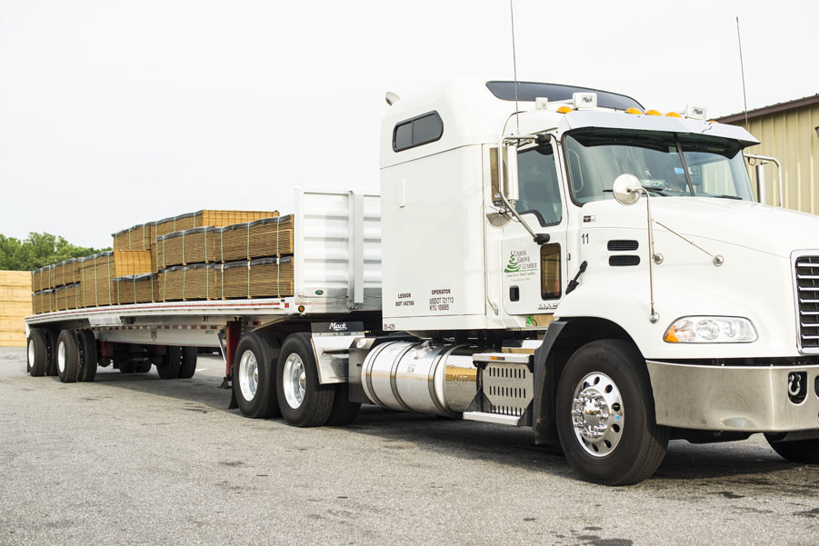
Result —
[{"label": "grey asphalt pavement of the lot beneath the truck", "polygon": [[365,406],[339,428],[245,419],[193,379],[29,377],[0,349],[0,545],[819,544],[819,467],[671,442],[653,478],[579,481],[531,431]]}]

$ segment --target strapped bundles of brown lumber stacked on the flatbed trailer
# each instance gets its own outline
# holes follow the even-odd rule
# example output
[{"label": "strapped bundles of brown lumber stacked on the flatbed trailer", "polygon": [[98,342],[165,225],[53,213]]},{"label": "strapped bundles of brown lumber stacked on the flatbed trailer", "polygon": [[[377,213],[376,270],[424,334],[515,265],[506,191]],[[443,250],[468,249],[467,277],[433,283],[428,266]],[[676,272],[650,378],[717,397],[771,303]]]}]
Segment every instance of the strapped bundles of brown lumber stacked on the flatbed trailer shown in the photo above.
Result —
[{"label": "strapped bundles of brown lumber stacked on the flatbed trailer", "polygon": [[114,250],[31,273],[34,313],[293,295],[293,216],[198,211],[113,235]]}]

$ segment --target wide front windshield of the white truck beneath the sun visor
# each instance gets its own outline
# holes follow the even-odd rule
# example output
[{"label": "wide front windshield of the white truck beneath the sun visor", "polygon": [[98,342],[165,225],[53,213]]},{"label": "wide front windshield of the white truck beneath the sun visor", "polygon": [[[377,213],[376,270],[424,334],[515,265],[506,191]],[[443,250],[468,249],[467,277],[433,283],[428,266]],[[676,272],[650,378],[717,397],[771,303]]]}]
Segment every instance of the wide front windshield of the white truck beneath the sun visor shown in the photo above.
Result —
[{"label": "wide front windshield of the white truck beneath the sun visor", "polygon": [[580,129],[565,137],[574,201],[613,199],[620,174],[634,174],[660,196],[752,201],[739,143],[701,134]]}]

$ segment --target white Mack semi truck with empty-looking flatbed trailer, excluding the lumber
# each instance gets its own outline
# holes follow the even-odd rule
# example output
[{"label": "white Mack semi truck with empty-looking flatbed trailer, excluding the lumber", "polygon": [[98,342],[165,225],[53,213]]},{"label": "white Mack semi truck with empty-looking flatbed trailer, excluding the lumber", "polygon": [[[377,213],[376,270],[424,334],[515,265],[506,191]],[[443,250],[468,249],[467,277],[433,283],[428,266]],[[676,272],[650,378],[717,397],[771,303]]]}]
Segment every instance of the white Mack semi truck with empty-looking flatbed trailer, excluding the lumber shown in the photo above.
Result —
[{"label": "white Mack semi truck with empty-looking flatbed trailer, excluding the lumber", "polygon": [[221,347],[245,416],[525,426],[611,485],[673,438],[819,462],[819,218],[754,203],[751,134],[555,84],[387,102],[380,198],[296,190],[293,297],[31,316],[31,372]]}]

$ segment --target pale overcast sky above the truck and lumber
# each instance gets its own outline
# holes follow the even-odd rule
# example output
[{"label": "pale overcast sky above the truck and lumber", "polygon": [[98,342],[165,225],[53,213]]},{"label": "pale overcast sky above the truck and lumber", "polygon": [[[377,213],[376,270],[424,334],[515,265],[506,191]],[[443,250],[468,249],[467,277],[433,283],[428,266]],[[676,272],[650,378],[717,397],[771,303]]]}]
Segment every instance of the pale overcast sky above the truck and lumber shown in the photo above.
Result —
[{"label": "pale overcast sky above the truck and lumber", "polygon": [[[515,0],[518,77],[709,116],[819,93],[819,2]],[[511,79],[508,0],[0,0],[0,233],[378,188],[384,94]]]}]

